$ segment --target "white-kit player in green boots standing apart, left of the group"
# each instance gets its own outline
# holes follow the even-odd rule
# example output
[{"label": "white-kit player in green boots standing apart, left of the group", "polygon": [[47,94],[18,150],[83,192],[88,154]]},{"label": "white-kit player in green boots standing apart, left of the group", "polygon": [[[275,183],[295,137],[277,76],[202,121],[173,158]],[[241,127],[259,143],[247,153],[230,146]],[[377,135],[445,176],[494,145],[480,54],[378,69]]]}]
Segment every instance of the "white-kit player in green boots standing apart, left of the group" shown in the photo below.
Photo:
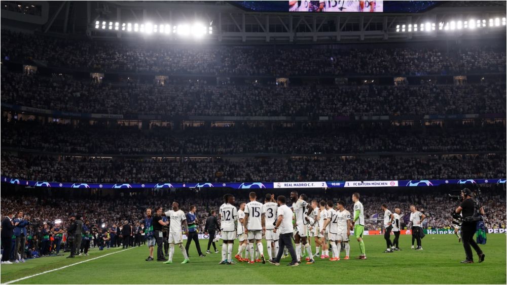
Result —
[{"label": "white-kit player in green boots standing apart, left of the group", "polygon": [[188,225],[187,218],[185,216],[185,212],[179,210],[179,202],[172,202],[172,210],[169,210],[164,213],[167,217],[169,217],[169,260],[164,262],[166,264],[172,263],[172,257],[174,255],[174,244],[179,247],[179,250],[182,252],[183,257],[185,258],[182,262],[189,263],[190,259],[187,255],[187,250],[183,246],[183,236],[182,236],[182,225],[184,228],[185,234],[188,234]]}]

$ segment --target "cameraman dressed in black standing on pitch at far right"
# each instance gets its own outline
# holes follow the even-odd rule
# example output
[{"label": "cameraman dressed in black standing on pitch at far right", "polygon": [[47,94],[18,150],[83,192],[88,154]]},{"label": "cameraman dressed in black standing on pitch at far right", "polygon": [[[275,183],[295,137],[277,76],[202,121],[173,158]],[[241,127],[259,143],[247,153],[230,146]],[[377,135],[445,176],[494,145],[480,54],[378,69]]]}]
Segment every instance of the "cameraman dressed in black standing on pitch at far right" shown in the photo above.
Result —
[{"label": "cameraman dressed in black standing on pitch at far right", "polygon": [[[470,246],[474,248],[479,256],[479,263],[484,261],[484,253],[481,248],[477,245],[474,240],[474,234],[477,231],[477,219],[480,215],[484,215],[484,209],[477,205],[479,209],[476,209],[476,202],[473,199],[474,194],[468,188],[465,188],[461,191],[461,198],[463,201],[461,205],[456,208],[456,214],[462,214],[463,222],[461,223],[461,238],[463,240],[463,248],[465,248],[466,259],[461,261],[461,263],[474,263],[474,256],[472,255],[472,249]],[[477,211],[478,210],[478,211]],[[479,213],[477,213],[479,212]]]}]

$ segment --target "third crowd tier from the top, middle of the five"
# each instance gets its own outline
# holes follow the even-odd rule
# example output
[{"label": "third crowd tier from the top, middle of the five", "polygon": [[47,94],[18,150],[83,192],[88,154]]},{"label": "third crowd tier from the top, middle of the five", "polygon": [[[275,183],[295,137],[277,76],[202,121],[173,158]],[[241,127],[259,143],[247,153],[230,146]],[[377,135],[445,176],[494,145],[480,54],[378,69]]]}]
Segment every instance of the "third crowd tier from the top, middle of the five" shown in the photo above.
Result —
[{"label": "third crowd tier from the top, middle of the five", "polygon": [[364,124],[328,131],[186,130],[2,121],[2,147],[81,154],[340,154],[505,151],[505,125],[441,128]]}]

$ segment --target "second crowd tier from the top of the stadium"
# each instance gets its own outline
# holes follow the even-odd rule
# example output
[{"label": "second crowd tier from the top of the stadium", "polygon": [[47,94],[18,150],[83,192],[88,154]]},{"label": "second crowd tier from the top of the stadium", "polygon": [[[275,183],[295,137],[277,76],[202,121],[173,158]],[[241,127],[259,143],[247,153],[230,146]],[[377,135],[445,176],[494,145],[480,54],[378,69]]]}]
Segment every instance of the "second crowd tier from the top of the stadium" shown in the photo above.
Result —
[{"label": "second crowd tier from the top of the stadium", "polygon": [[505,82],[420,86],[112,85],[4,72],[2,102],[69,112],[216,116],[505,113]]}]

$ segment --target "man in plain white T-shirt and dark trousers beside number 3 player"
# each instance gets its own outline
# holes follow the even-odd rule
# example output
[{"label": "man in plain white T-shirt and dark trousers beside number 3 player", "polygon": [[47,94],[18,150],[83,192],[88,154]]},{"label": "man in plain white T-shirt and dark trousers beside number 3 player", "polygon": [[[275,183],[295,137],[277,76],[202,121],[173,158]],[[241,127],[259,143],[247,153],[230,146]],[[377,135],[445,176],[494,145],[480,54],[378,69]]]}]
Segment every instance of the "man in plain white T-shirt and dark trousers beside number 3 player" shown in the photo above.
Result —
[{"label": "man in plain white T-shirt and dark trousers beside number 3 player", "polygon": [[278,217],[276,220],[275,228],[273,232],[279,232],[280,238],[278,239],[278,253],[273,260],[269,260],[269,263],[274,265],[280,265],[280,259],[283,255],[283,248],[287,247],[288,252],[291,254],[292,261],[287,264],[288,266],[298,266],[298,260],[296,256],[296,252],[294,251],[294,247],[292,246],[292,234],[293,234],[293,225],[292,225],[292,211],[290,208],[285,205],[285,196],[278,196],[278,209],[276,210],[276,216]]}]

